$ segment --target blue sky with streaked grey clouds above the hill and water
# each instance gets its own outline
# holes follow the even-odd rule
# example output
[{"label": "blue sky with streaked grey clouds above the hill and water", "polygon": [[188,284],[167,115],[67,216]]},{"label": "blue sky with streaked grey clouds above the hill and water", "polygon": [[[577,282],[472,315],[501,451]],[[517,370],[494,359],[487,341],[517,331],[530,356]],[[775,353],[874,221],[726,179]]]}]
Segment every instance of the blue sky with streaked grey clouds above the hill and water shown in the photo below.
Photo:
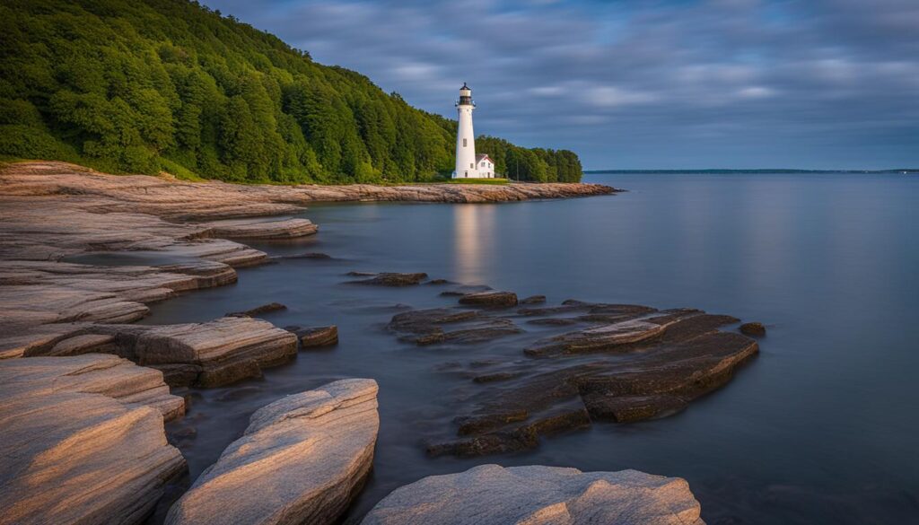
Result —
[{"label": "blue sky with streaked grey clouds above the hill and water", "polygon": [[585,169],[919,167],[919,0],[204,0]]}]

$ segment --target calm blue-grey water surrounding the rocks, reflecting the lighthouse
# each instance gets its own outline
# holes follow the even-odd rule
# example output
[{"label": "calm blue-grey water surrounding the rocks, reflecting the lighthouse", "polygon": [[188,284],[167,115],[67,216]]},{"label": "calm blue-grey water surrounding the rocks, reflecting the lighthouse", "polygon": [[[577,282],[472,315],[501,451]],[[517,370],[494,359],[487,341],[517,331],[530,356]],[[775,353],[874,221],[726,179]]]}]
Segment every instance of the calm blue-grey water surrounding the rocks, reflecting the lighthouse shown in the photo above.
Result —
[{"label": "calm blue-grey water surrounding the rocks, reflecting the lighthouse", "polygon": [[[392,489],[474,464],[639,469],[685,477],[709,523],[919,522],[919,178],[607,176],[629,193],[504,205],[315,206],[313,239],[256,245],[324,252],[240,271],[231,287],[154,305],[145,322],[203,321],[265,302],[277,325],[339,325],[341,344],[301,352],[262,381],[197,391],[170,425],[197,476],[249,415],[343,377],[380,382],[373,477],[350,517]],[[426,271],[521,296],[691,306],[759,320],[761,355],[675,417],[598,424],[539,450],[429,459],[450,404],[476,388],[451,373],[515,340],[416,348],[383,325],[402,305],[448,305],[439,289],[341,284],[348,270]],[[525,326],[528,331],[535,330]],[[187,428],[196,428],[189,438]],[[185,437],[182,437],[185,435]]]}]

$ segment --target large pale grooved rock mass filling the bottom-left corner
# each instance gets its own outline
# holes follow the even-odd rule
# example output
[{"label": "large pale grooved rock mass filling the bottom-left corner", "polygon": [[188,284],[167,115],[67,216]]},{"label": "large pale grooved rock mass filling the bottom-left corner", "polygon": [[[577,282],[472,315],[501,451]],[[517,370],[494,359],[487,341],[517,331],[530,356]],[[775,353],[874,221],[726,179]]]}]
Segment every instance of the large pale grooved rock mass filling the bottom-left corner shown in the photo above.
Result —
[{"label": "large pale grooved rock mass filling the bottom-left corner", "polygon": [[0,523],[141,523],[185,460],[159,371],[115,356],[0,361]]}]

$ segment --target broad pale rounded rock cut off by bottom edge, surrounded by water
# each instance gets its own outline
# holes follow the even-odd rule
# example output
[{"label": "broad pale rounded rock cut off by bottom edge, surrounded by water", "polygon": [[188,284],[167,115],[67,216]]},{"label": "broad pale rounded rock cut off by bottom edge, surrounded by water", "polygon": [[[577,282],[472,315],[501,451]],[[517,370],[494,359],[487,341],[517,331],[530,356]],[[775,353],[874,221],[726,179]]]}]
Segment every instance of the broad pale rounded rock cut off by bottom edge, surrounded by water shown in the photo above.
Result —
[{"label": "broad pale rounded rock cut off by bottom edge, surrounded by water", "polygon": [[383,498],[362,525],[705,525],[686,480],[638,471],[482,465]]}]

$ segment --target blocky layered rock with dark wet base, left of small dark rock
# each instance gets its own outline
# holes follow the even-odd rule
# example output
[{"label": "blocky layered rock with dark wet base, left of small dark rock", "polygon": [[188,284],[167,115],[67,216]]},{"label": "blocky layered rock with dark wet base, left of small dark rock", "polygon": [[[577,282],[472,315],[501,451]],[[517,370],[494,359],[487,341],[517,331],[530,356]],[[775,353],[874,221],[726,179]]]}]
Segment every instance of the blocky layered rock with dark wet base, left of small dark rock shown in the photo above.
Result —
[{"label": "blocky layered rock with dark wet base, left of small dark rock", "polygon": [[161,370],[172,386],[221,386],[260,377],[263,367],[297,355],[297,336],[251,317],[186,325],[96,325],[119,355]]}]

